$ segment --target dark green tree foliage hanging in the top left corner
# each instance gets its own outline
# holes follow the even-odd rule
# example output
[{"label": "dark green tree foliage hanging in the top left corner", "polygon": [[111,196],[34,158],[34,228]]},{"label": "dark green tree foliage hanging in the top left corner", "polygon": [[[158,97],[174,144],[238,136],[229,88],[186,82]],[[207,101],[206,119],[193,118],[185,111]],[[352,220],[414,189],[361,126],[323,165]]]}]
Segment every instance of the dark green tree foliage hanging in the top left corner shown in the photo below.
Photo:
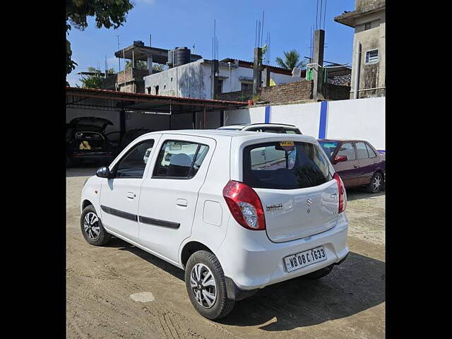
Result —
[{"label": "dark green tree foliage hanging in the top left corner", "polygon": [[[119,28],[132,8],[129,0],[66,0],[66,34],[72,27],[87,28],[89,16],[95,17],[97,28]],[[76,66],[72,60],[71,42],[66,39],[66,73],[71,73]]]}]

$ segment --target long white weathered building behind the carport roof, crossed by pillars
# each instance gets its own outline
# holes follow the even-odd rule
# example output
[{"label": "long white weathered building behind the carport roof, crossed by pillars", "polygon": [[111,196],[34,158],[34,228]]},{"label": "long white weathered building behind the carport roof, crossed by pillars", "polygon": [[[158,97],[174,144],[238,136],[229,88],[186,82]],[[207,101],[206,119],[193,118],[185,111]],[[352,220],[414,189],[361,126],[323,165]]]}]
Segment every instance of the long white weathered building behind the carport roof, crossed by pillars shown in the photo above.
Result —
[{"label": "long white weathered building behind the carport roof, crossed by pillars", "polygon": [[[218,61],[215,93],[248,91],[253,88],[253,63],[237,59]],[[292,71],[275,66],[263,66],[270,71],[269,83],[279,85],[302,81],[304,71],[292,76]],[[175,66],[160,73],[144,76],[146,94],[168,95],[172,97],[196,97],[214,99],[212,78],[214,76],[213,60],[198,59],[188,64]],[[265,87],[266,71],[262,72],[262,86]]]}]

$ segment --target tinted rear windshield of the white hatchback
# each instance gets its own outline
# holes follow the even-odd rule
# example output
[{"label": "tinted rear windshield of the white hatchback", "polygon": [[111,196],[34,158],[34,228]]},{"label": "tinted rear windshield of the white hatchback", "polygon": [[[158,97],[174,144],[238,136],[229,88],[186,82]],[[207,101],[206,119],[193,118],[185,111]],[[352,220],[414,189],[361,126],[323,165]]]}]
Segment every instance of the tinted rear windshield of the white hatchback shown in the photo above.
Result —
[{"label": "tinted rear windshield of the white hatchback", "polygon": [[277,141],[244,148],[243,181],[261,189],[303,189],[333,179],[329,162],[313,143]]}]

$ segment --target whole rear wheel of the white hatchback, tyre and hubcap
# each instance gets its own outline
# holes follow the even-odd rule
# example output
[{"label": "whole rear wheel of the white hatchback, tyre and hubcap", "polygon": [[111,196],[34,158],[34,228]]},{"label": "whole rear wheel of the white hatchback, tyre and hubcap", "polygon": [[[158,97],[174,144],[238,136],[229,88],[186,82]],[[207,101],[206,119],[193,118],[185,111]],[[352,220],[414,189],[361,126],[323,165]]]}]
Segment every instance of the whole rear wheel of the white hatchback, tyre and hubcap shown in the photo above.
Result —
[{"label": "whole rear wheel of the white hatchback, tyre and hubcap", "polygon": [[185,268],[185,285],[191,304],[201,316],[217,320],[234,308],[227,299],[225,274],[218,258],[208,251],[196,251]]}]

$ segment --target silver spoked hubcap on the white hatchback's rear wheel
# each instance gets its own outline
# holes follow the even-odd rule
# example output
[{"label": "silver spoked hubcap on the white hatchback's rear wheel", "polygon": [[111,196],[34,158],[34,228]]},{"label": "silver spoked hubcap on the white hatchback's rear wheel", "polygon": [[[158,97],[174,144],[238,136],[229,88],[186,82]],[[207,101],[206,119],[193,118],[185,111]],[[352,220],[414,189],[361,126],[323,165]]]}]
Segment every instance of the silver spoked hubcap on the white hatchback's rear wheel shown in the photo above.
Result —
[{"label": "silver spoked hubcap on the white hatchback's rear wheel", "polygon": [[210,269],[203,263],[196,263],[191,268],[190,286],[196,302],[206,309],[210,309],[217,300],[217,284]]}]

